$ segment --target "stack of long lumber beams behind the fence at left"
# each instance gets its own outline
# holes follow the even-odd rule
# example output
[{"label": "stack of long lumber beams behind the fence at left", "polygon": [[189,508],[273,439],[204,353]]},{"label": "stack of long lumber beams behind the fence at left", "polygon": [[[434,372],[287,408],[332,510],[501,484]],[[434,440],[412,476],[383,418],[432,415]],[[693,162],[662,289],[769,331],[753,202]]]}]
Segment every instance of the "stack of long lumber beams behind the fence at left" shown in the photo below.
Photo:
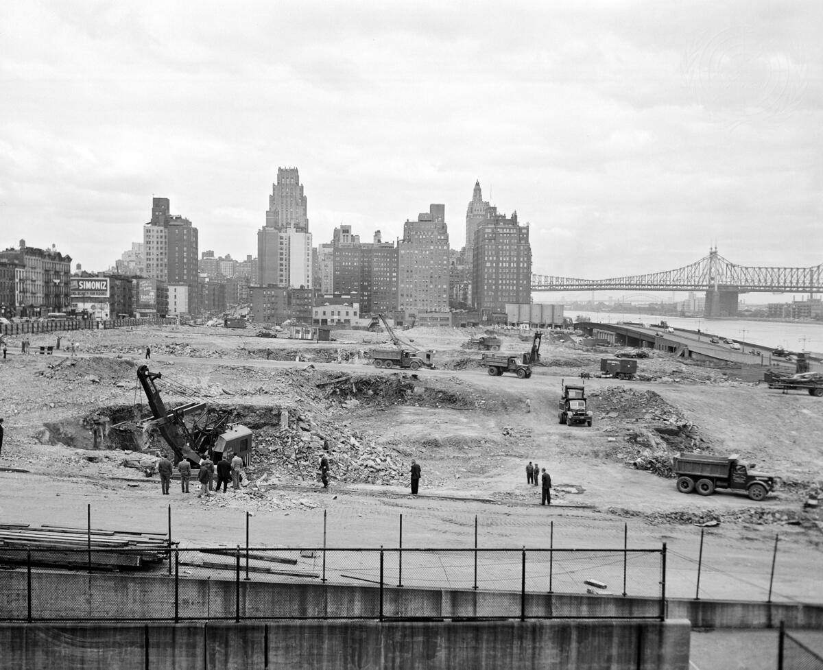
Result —
[{"label": "stack of long lumber beams behind the fence at left", "polygon": [[169,547],[163,533],[0,523],[0,565],[137,570],[165,560]]}]

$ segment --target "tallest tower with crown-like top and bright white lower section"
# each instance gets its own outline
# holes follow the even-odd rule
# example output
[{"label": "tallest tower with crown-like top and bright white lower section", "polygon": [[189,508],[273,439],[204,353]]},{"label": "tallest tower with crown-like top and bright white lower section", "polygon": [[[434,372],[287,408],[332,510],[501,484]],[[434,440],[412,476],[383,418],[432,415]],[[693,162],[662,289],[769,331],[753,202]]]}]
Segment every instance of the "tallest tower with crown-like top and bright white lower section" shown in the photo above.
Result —
[{"label": "tallest tower with crown-like top and bright white lower section", "polygon": [[258,231],[261,286],[311,288],[312,238],[307,201],[297,168],[279,168],[268,197],[266,225]]}]

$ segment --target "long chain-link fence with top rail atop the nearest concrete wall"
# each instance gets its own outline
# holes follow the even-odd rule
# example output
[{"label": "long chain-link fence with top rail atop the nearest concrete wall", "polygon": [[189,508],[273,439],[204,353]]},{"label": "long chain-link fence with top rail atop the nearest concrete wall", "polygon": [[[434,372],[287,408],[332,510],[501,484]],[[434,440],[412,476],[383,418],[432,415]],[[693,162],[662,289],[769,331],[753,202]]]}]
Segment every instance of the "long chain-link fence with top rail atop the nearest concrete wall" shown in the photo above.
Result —
[{"label": "long chain-link fence with top rail atop the nearest concrete wall", "polygon": [[3,548],[0,620],[663,619],[665,556],[665,547]]}]

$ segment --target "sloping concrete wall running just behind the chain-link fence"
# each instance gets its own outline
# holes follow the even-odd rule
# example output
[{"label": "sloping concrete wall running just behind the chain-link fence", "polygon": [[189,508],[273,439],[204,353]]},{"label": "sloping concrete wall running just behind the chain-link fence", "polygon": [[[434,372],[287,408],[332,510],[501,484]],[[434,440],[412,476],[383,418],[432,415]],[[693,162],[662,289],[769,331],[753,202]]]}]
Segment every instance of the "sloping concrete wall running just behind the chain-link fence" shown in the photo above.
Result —
[{"label": "sloping concrete wall running just behind the chain-link fence", "polygon": [[[45,619],[174,619],[174,579],[167,576],[32,572],[33,621]],[[241,618],[377,618],[374,586],[241,581]],[[233,620],[235,582],[179,579],[180,619]],[[0,573],[0,621],[26,621],[25,570]],[[458,589],[384,588],[383,615],[402,618],[518,618],[520,593]],[[656,598],[587,593],[526,593],[525,615],[548,618],[654,618]],[[770,628],[785,621],[794,629],[823,629],[823,605],[718,600],[667,601],[667,618],[688,619],[695,628]]]}]

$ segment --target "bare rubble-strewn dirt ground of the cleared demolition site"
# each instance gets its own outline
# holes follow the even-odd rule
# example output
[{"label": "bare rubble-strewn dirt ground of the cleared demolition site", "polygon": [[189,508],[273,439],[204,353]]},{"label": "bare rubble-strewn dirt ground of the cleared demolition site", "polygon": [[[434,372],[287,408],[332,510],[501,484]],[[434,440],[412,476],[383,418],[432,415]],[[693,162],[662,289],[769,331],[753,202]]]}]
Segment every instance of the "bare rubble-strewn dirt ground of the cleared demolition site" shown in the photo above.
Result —
[{"label": "bare rubble-strewn dirt ground of the cleared demolition site", "polygon": [[[437,370],[375,370],[365,351],[386,336],[339,331],[336,342],[253,337],[224,328],[75,332],[55,356],[10,354],[0,365],[6,436],[0,456],[0,523],[163,530],[184,545],[244,542],[253,514],[258,546],[317,547],[323,512],[330,547],[660,547],[667,594],[695,595],[704,529],[701,598],[765,600],[779,536],[774,600],[823,602],[816,579],[821,515],[807,506],[823,482],[823,401],[757,385],[762,369],[716,369],[663,354],[639,361],[639,379],[586,379],[592,427],[557,421],[561,380],[595,373],[606,350],[544,337],[531,379],[492,377],[469,330],[403,333],[437,350]],[[501,333],[504,351],[527,351]],[[54,344],[32,337],[32,350]],[[78,356],[67,357],[67,342]],[[151,361],[144,361],[146,345]],[[164,448],[135,428],[150,416],[137,365],[162,372],[170,405],[202,398],[254,431],[248,486],[200,499],[144,477]],[[344,378],[344,379],[343,379]],[[168,384],[166,384],[168,382]],[[531,402],[528,407],[526,400]],[[283,416],[288,413],[287,423]],[[121,426],[93,449],[92,420]],[[332,484],[319,485],[323,438],[333,440]],[[745,496],[683,496],[670,474],[681,450],[741,454],[784,486],[760,503]],[[409,495],[411,459],[421,496]],[[526,484],[525,465],[551,472],[553,505]],[[133,467],[137,466],[137,468]],[[710,523],[701,528],[700,523]],[[658,579],[658,575],[649,575]]]}]

